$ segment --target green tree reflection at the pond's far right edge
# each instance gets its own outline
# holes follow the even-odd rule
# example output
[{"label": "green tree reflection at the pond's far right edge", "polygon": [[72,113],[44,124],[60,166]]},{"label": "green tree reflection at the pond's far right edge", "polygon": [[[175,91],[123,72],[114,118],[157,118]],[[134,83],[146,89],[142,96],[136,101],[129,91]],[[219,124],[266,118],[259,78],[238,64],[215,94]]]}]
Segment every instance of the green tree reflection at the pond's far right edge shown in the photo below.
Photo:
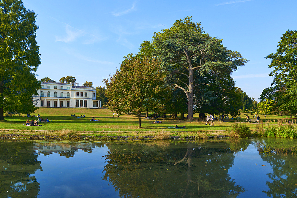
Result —
[{"label": "green tree reflection at the pond's far right edge", "polygon": [[268,173],[268,197],[297,197],[296,140],[269,139],[255,141],[255,146],[263,161],[267,161],[273,170]]}]

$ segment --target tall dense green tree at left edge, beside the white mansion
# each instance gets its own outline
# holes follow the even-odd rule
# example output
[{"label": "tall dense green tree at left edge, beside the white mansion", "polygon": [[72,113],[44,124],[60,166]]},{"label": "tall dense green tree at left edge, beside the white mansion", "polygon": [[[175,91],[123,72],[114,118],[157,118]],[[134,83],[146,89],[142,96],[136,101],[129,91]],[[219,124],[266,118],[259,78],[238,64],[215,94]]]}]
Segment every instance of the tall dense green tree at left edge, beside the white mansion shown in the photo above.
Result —
[{"label": "tall dense green tree at left edge, beside the white mansion", "polygon": [[22,1],[0,1],[0,120],[3,111],[32,113],[32,95],[41,87],[36,79],[41,64],[35,40],[36,14]]}]

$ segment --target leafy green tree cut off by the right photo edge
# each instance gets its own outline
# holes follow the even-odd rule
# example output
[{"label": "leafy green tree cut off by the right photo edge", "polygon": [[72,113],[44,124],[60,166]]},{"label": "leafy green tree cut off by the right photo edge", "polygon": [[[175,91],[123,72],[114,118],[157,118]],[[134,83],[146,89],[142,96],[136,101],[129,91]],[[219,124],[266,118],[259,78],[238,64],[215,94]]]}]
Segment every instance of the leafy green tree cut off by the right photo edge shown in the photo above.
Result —
[{"label": "leafy green tree cut off by the right photo edge", "polygon": [[271,87],[263,90],[260,100],[274,100],[274,107],[287,110],[290,114],[297,113],[297,31],[287,30],[281,37],[276,53],[270,58],[269,68],[274,68],[269,74],[274,77]]}]

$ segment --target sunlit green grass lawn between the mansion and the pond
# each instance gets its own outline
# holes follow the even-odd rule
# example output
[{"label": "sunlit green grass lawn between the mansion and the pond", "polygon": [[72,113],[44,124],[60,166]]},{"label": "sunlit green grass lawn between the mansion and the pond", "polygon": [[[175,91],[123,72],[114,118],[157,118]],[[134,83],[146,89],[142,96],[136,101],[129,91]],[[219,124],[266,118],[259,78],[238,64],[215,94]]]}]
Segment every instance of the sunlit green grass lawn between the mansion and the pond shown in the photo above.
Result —
[{"label": "sunlit green grass lawn between the mansion and the pond", "polygon": [[[85,114],[86,118],[73,118],[71,113],[75,115]],[[172,132],[172,134],[178,132],[190,133],[189,131],[209,131],[204,132],[205,135],[220,134],[224,135],[225,132],[213,132],[217,130],[225,130],[226,127],[231,126],[233,119],[225,119],[225,122],[214,122],[214,126],[205,125],[205,121],[198,120],[195,122],[187,122],[180,120],[157,119],[162,123],[152,123],[155,120],[142,119],[141,126],[138,128],[138,117],[124,114],[120,117],[113,117],[113,113],[107,109],[75,109],[75,108],[39,108],[31,115],[40,114],[42,118],[48,117],[51,123],[40,123],[42,126],[25,126],[28,117],[26,115],[15,115],[4,117],[5,121],[0,122],[0,129],[18,129],[18,130],[46,130],[46,131],[84,131],[85,133],[97,132],[99,134],[120,134],[120,132],[132,133],[133,132]],[[239,122],[243,122],[244,115],[241,113],[242,119],[238,119]],[[100,121],[90,121],[91,118],[100,119]],[[260,116],[264,118],[264,116]],[[286,116],[269,116],[269,119],[273,121],[277,118],[285,118]],[[34,117],[37,119],[37,117]],[[194,115],[194,119],[198,119],[198,114]],[[265,122],[265,119],[262,119]],[[169,127],[186,126],[187,129],[169,129]],[[254,129],[255,123],[249,123],[250,129]],[[173,132],[174,131],[174,132]]]}]

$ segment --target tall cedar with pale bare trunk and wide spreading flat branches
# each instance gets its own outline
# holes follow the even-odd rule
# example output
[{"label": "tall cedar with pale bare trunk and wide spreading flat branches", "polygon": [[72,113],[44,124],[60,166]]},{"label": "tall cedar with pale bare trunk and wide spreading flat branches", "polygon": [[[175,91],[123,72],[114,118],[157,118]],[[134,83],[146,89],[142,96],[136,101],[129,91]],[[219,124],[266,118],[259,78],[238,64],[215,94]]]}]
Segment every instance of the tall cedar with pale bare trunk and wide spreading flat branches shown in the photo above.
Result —
[{"label": "tall cedar with pale bare trunk and wide spreading flat branches", "polygon": [[153,45],[156,56],[162,59],[162,69],[187,96],[189,121],[193,120],[194,88],[204,84],[196,76],[210,71],[230,75],[248,61],[221,43],[221,39],[205,34],[192,17],[176,20],[170,29],[154,33]]}]

